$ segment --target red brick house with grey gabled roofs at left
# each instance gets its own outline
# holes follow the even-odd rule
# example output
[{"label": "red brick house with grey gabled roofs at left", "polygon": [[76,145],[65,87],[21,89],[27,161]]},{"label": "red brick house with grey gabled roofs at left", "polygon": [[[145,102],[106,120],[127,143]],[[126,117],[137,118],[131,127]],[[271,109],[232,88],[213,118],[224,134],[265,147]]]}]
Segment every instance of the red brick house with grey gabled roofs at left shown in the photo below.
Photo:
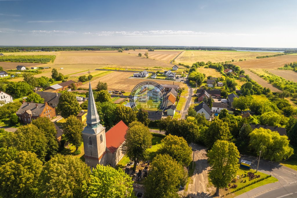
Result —
[{"label": "red brick house with grey gabled roofs at left", "polygon": [[55,117],[56,110],[47,102],[44,104],[23,102],[16,114],[21,122],[29,124],[39,117]]}]

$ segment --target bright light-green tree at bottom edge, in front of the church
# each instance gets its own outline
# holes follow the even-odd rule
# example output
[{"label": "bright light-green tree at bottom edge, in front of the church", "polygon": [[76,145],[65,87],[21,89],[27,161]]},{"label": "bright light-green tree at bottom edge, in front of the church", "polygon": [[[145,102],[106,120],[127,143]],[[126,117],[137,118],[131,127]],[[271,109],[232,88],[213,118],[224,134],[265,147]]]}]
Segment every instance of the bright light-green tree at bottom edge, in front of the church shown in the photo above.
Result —
[{"label": "bright light-green tree at bottom edge, in front of the church", "polygon": [[87,197],[134,198],[132,184],[131,177],[123,170],[98,164],[83,188]]}]

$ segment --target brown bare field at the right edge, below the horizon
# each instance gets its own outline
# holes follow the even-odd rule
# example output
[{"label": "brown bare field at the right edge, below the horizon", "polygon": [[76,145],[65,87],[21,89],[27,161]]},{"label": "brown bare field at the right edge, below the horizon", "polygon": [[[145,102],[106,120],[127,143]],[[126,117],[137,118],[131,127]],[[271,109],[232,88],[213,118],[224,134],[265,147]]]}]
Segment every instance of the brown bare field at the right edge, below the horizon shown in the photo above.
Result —
[{"label": "brown bare field at the right edge, below the horizon", "polygon": [[258,69],[258,68],[277,69],[291,62],[297,62],[297,56],[283,55],[283,56],[275,56],[270,58],[236,62],[233,64],[238,65],[242,68],[249,68],[249,69]]}]

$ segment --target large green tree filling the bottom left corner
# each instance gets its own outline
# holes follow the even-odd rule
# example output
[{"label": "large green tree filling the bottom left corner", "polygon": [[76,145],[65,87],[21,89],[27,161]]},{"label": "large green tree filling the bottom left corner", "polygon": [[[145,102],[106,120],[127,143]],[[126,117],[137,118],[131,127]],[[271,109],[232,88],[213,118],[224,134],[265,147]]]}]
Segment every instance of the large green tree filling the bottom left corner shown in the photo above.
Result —
[{"label": "large green tree filling the bottom left corner", "polygon": [[37,197],[37,184],[42,162],[35,153],[20,151],[15,158],[0,166],[1,197]]}]

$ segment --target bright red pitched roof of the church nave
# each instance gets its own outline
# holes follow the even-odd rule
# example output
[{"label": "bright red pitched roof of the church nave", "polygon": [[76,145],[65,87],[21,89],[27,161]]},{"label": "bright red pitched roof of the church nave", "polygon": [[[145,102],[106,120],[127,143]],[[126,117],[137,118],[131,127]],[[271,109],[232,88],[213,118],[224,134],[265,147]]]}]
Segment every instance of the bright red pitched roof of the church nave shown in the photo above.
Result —
[{"label": "bright red pitched roof of the church nave", "polygon": [[114,153],[125,141],[125,134],[128,127],[121,120],[113,128],[105,133],[106,147],[111,153]]}]

